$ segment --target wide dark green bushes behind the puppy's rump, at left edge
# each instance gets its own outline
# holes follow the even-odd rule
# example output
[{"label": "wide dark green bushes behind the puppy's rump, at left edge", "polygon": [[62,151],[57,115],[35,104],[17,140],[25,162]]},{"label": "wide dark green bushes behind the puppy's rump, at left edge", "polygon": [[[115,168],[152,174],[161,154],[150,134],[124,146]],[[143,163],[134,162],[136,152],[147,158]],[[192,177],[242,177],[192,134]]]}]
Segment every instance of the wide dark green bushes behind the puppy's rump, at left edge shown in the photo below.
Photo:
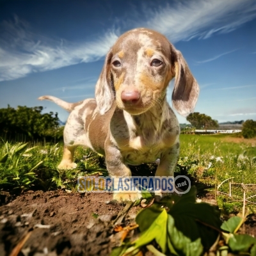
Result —
[{"label": "wide dark green bushes behind the puppy's rump, at left edge", "polygon": [[0,136],[15,138],[15,134],[24,134],[29,140],[59,136],[58,113],[44,113],[43,107],[28,108],[18,106],[17,109],[0,109]]}]

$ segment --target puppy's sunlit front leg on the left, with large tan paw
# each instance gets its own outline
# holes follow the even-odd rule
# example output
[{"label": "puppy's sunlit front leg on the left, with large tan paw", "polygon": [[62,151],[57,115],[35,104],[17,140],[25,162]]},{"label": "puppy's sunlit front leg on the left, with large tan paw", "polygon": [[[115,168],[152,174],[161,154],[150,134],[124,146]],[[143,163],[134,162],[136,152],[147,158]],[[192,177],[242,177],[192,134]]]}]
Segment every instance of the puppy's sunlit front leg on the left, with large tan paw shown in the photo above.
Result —
[{"label": "puppy's sunlit front leg on the left, with large tan paw", "polygon": [[[114,187],[118,187],[119,178],[122,177],[131,177],[130,168],[124,163],[124,158],[120,150],[115,147],[115,145],[111,145],[106,147],[106,165],[109,174],[114,178]],[[136,201],[140,199],[141,191],[136,190],[128,190],[128,191],[114,191],[113,199],[117,201]]]}]

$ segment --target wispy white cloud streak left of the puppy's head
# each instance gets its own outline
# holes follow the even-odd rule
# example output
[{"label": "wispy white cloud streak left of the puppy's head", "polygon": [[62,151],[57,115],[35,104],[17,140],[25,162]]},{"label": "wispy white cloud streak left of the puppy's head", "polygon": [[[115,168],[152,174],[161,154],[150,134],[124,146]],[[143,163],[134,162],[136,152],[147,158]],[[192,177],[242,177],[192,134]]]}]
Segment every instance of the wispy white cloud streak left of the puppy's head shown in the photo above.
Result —
[{"label": "wispy white cloud streak left of the puppy's head", "polygon": [[118,38],[112,29],[90,42],[52,40],[31,32],[28,24],[18,17],[15,17],[15,22],[5,21],[0,27],[0,81],[97,61],[106,55]]}]

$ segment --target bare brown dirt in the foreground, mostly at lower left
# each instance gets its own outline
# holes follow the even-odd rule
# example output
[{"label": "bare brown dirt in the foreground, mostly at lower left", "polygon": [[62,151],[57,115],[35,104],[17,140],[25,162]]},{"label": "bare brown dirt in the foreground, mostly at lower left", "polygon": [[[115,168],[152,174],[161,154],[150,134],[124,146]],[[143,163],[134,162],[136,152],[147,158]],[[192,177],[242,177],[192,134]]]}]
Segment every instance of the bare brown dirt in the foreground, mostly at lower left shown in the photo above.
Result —
[{"label": "bare brown dirt in the foreground, mostly at lower left", "polygon": [[[24,239],[19,253],[13,255],[109,255],[124,235],[115,232],[115,225],[134,225],[141,209],[132,207],[125,215],[127,205],[111,201],[112,196],[63,190],[28,191],[17,196],[0,207],[0,255],[12,255]],[[3,196],[0,199],[3,202]],[[214,204],[210,194],[200,199]],[[5,200],[10,198],[5,196]],[[242,232],[256,236],[255,214],[248,218]],[[132,230],[129,236],[136,234]]]}]

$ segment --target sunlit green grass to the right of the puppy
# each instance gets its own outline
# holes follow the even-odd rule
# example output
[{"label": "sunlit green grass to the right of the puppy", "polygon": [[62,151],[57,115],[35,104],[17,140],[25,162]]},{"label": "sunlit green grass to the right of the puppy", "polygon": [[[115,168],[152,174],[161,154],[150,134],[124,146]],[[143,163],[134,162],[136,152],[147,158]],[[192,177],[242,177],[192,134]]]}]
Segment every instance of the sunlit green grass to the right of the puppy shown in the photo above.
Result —
[{"label": "sunlit green grass to the right of the puppy", "polygon": [[[243,188],[232,185],[232,198],[229,193],[229,181],[256,184],[256,147],[251,143],[226,141],[230,135],[191,135],[180,136],[180,157],[178,163],[185,166],[188,173],[198,182],[216,187],[224,180],[218,191],[218,204],[227,211],[241,211]],[[254,143],[255,144],[255,143]],[[246,187],[246,197],[256,195],[256,186]],[[254,198],[250,201],[256,203]],[[248,204],[253,210],[254,204]]]}]

